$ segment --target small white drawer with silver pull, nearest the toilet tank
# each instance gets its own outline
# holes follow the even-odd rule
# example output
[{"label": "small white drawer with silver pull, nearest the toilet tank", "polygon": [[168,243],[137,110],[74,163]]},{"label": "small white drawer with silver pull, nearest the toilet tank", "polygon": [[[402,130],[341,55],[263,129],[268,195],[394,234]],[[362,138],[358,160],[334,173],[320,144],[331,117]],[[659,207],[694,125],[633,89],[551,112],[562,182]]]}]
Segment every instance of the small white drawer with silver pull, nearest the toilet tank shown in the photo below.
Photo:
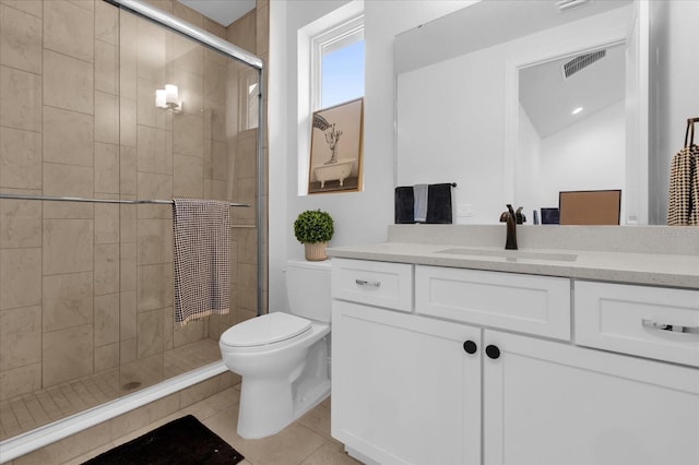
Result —
[{"label": "small white drawer with silver pull, nearest the toilet tank", "polygon": [[410,312],[413,265],[333,259],[332,297]]}]

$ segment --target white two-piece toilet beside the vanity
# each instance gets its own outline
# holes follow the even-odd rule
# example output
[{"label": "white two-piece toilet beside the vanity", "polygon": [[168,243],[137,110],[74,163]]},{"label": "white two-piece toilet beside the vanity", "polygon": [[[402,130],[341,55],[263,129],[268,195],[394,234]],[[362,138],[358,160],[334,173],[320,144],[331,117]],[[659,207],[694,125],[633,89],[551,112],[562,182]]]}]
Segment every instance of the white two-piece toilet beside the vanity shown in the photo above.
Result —
[{"label": "white two-piece toilet beside the vanity", "polygon": [[238,323],[221,335],[223,361],[242,378],[238,436],[284,429],[330,394],[330,261],[288,261],[289,313]]}]

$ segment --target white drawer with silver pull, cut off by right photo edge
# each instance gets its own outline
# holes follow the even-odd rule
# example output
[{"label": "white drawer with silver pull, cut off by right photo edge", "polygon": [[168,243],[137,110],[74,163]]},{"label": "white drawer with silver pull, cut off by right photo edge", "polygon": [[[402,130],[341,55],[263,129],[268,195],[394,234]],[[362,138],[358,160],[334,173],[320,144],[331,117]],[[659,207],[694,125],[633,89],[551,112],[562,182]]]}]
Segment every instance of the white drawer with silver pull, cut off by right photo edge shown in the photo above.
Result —
[{"label": "white drawer with silver pull, cut off by right photo edge", "polygon": [[699,290],[574,286],[577,344],[699,367]]}]

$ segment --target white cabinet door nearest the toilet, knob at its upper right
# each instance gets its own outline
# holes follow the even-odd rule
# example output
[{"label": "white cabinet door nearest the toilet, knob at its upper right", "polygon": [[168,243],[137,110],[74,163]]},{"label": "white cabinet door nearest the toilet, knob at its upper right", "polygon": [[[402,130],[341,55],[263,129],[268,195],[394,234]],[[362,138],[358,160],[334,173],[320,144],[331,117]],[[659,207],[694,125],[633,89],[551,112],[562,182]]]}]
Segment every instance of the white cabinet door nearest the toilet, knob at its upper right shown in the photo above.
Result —
[{"label": "white cabinet door nearest the toilet, knob at its upper right", "polygon": [[332,436],[350,451],[481,463],[479,329],[333,300],[332,360]]}]

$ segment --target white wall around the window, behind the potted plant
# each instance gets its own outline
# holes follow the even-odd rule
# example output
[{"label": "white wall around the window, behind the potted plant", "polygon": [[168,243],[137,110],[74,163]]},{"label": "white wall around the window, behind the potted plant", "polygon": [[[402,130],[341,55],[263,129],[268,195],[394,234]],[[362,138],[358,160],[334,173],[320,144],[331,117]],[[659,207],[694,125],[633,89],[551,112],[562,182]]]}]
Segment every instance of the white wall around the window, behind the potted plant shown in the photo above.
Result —
[{"label": "white wall around the window, behind the potted plant", "polygon": [[[301,258],[296,241],[296,216],[310,208],[329,212],[335,220],[330,246],[380,242],[393,223],[394,78],[393,37],[455,9],[460,1],[365,2],[366,81],[364,107],[364,191],[299,196],[297,98],[298,29],[345,5],[344,0],[271,0],[269,120],[269,295],[270,309],[286,308],[283,269],[287,259]],[[300,70],[306,72],[306,70]]]}]

